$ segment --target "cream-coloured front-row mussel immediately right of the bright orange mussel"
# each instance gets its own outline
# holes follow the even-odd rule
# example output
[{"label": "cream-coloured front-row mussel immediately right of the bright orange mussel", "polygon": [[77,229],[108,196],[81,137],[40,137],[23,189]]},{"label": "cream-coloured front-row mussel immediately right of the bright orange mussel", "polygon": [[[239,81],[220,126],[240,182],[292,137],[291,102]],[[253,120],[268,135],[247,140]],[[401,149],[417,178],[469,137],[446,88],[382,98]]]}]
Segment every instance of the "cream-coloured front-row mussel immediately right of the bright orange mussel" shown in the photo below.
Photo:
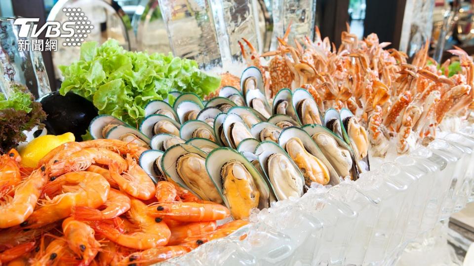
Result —
[{"label": "cream-coloured front-row mussel immediately right of the bright orange mussel", "polygon": [[275,142],[264,141],[255,150],[276,199],[301,197],[305,179],[298,166]]}]

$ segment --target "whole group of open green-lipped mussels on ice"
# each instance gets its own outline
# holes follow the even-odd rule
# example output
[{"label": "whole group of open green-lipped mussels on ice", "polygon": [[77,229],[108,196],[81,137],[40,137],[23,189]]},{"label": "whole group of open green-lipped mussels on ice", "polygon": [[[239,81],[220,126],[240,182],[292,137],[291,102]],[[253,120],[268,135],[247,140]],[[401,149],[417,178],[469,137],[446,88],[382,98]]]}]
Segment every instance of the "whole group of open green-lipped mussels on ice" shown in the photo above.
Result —
[{"label": "whole group of open green-lipped mussels on ice", "polygon": [[270,107],[255,67],[240,85],[242,91],[224,87],[207,102],[192,93],[176,94],[173,106],[152,101],[139,130],[101,115],[89,131],[151,148],[139,163],[155,182],[167,179],[224,203],[235,219],[300,197],[313,182],[336,185],[369,170],[367,134],[348,109],[322,115],[304,89],[280,90]]}]

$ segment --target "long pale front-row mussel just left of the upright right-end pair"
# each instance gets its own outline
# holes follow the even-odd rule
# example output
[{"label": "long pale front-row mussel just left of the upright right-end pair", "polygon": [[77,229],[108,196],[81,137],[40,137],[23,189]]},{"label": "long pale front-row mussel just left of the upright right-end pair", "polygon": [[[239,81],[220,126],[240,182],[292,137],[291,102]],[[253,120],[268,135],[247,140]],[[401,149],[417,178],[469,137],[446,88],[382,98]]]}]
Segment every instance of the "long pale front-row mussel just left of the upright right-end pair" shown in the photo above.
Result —
[{"label": "long pale front-row mussel just left of the upright right-end pair", "polygon": [[358,179],[359,173],[354,152],[342,138],[321,125],[306,125],[303,130],[316,142],[339,176],[352,180]]}]

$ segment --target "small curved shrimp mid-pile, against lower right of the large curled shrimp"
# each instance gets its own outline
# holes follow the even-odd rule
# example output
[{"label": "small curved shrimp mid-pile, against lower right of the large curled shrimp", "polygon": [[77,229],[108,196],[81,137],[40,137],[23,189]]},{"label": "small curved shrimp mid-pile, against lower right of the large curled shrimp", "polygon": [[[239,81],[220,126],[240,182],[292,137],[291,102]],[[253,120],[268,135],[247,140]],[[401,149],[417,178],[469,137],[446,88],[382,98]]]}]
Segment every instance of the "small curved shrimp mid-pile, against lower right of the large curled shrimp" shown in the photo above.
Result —
[{"label": "small curved shrimp mid-pile, against lower right of the large curled shrimp", "polygon": [[[105,208],[104,208],[105,207]],[[101,221],[115,218],[130,209],[130,198],[118,190],[110,189],[109,198],[96,208],[73,207],[73,216],[78,220]]]}]

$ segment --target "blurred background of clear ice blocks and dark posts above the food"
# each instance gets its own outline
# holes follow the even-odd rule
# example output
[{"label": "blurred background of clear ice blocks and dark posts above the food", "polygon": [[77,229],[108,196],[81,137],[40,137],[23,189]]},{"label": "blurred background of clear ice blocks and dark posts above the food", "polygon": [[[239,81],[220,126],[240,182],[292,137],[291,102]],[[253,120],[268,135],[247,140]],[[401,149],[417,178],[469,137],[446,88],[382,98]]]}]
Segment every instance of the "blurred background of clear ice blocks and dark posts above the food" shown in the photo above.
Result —
[{"label": "blurred background of clear ice blocks and dark posts above the food", "polygon": [[[81,7],[95,26],[86,40],[117,39],[124,48],[172,52],[196,60],[204,69],[241,61],[244,37],[258,53],[275,49],[292,23],[289,41],[322,37],[336,46],[341,32],[363,38],[377,33],[381,42],[413,56],[427,41],[438,62],[454,45],[474,53],[473,0],[1,0],[1,17],[38,17],[66,21],[63,7]],[[44,36],[40,38],[44,38]],[[61,39],[58,39],[61,44]],[[79,57],[79,47],[58,45],[42,52],[52,90],[59,86],[57,66]]]}]

